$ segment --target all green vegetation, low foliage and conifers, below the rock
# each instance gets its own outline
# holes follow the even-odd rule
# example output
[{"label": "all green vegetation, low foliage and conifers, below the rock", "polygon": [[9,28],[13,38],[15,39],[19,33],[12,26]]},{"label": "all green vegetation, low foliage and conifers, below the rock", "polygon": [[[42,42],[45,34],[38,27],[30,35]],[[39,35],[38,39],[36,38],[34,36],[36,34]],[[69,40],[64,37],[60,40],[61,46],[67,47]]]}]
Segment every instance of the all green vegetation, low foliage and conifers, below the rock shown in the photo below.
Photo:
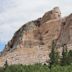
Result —
[{"label": "all green vegetation, low foliage and conifers, below the rock", "polygon": [[[63,45],[62,58],[56,49],[56,41],[53,40],[50,57],[50,65],[8,65],[7,61],[0,72],[72,72],[72,50],[67,51],[67,46]],[[61,65],[59,65],[59,60]]]}]

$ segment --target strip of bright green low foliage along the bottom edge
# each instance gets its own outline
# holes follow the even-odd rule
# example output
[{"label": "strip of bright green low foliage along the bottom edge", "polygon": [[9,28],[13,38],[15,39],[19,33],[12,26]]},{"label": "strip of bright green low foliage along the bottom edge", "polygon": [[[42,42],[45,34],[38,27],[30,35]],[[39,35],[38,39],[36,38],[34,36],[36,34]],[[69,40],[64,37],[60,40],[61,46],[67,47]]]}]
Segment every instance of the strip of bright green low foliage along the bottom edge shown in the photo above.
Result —
[{"label": "strip of bright green low foliage along the bottom edge", "polygon": [[48,65],[10,65],[6,69],[0,68],[0,72],[72,72],[72,65],[52,65],[51,71]]}]

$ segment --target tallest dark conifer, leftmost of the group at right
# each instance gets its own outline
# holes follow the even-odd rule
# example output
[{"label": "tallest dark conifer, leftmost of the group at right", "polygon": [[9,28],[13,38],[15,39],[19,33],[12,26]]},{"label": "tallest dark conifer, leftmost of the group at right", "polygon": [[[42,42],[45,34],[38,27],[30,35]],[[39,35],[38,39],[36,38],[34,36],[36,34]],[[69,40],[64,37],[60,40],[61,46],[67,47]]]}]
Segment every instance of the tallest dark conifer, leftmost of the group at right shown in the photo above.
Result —
[{"label": "tallest dark conifer, leftmost of the group at right", "polygon": [[50,66],[53,64],[58,64],[59,53],[56,50],[56,41],[55,40],[53,40],[53,42],[52,42],[52,48],[51,48],[51,53],[50,53],[49,57],[50,57]]}]

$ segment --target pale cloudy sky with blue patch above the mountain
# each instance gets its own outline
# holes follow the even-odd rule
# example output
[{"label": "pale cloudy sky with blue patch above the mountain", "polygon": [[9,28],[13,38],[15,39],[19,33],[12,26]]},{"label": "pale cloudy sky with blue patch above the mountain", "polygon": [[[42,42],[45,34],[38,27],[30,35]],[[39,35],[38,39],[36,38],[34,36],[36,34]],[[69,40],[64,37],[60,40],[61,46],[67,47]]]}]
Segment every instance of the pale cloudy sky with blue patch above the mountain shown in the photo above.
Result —
[{"label": "pale cloudy sky with blue patch above the mountain", "polygon": [[72,13],[72,0],[0,0],[0,51],[22,25],[57,6],[62,17]]}]

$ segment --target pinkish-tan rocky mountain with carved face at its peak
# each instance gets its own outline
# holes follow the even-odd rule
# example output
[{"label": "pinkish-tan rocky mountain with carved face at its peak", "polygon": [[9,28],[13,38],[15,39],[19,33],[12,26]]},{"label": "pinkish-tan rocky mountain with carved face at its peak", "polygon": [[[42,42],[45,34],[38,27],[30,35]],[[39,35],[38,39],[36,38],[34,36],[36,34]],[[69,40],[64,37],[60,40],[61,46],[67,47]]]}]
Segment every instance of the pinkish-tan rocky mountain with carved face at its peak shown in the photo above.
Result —
[{"label": "pinkish-tan rocky mountain with carved face at its peak", "polygon": [[8,64],[45,63],[49,60],[51,43],[63,44],[71,49],[72,14],[61,18],[58,7],[46,12],[42,18],[24,24],[8,42],[0,56],[0,66]]}]

